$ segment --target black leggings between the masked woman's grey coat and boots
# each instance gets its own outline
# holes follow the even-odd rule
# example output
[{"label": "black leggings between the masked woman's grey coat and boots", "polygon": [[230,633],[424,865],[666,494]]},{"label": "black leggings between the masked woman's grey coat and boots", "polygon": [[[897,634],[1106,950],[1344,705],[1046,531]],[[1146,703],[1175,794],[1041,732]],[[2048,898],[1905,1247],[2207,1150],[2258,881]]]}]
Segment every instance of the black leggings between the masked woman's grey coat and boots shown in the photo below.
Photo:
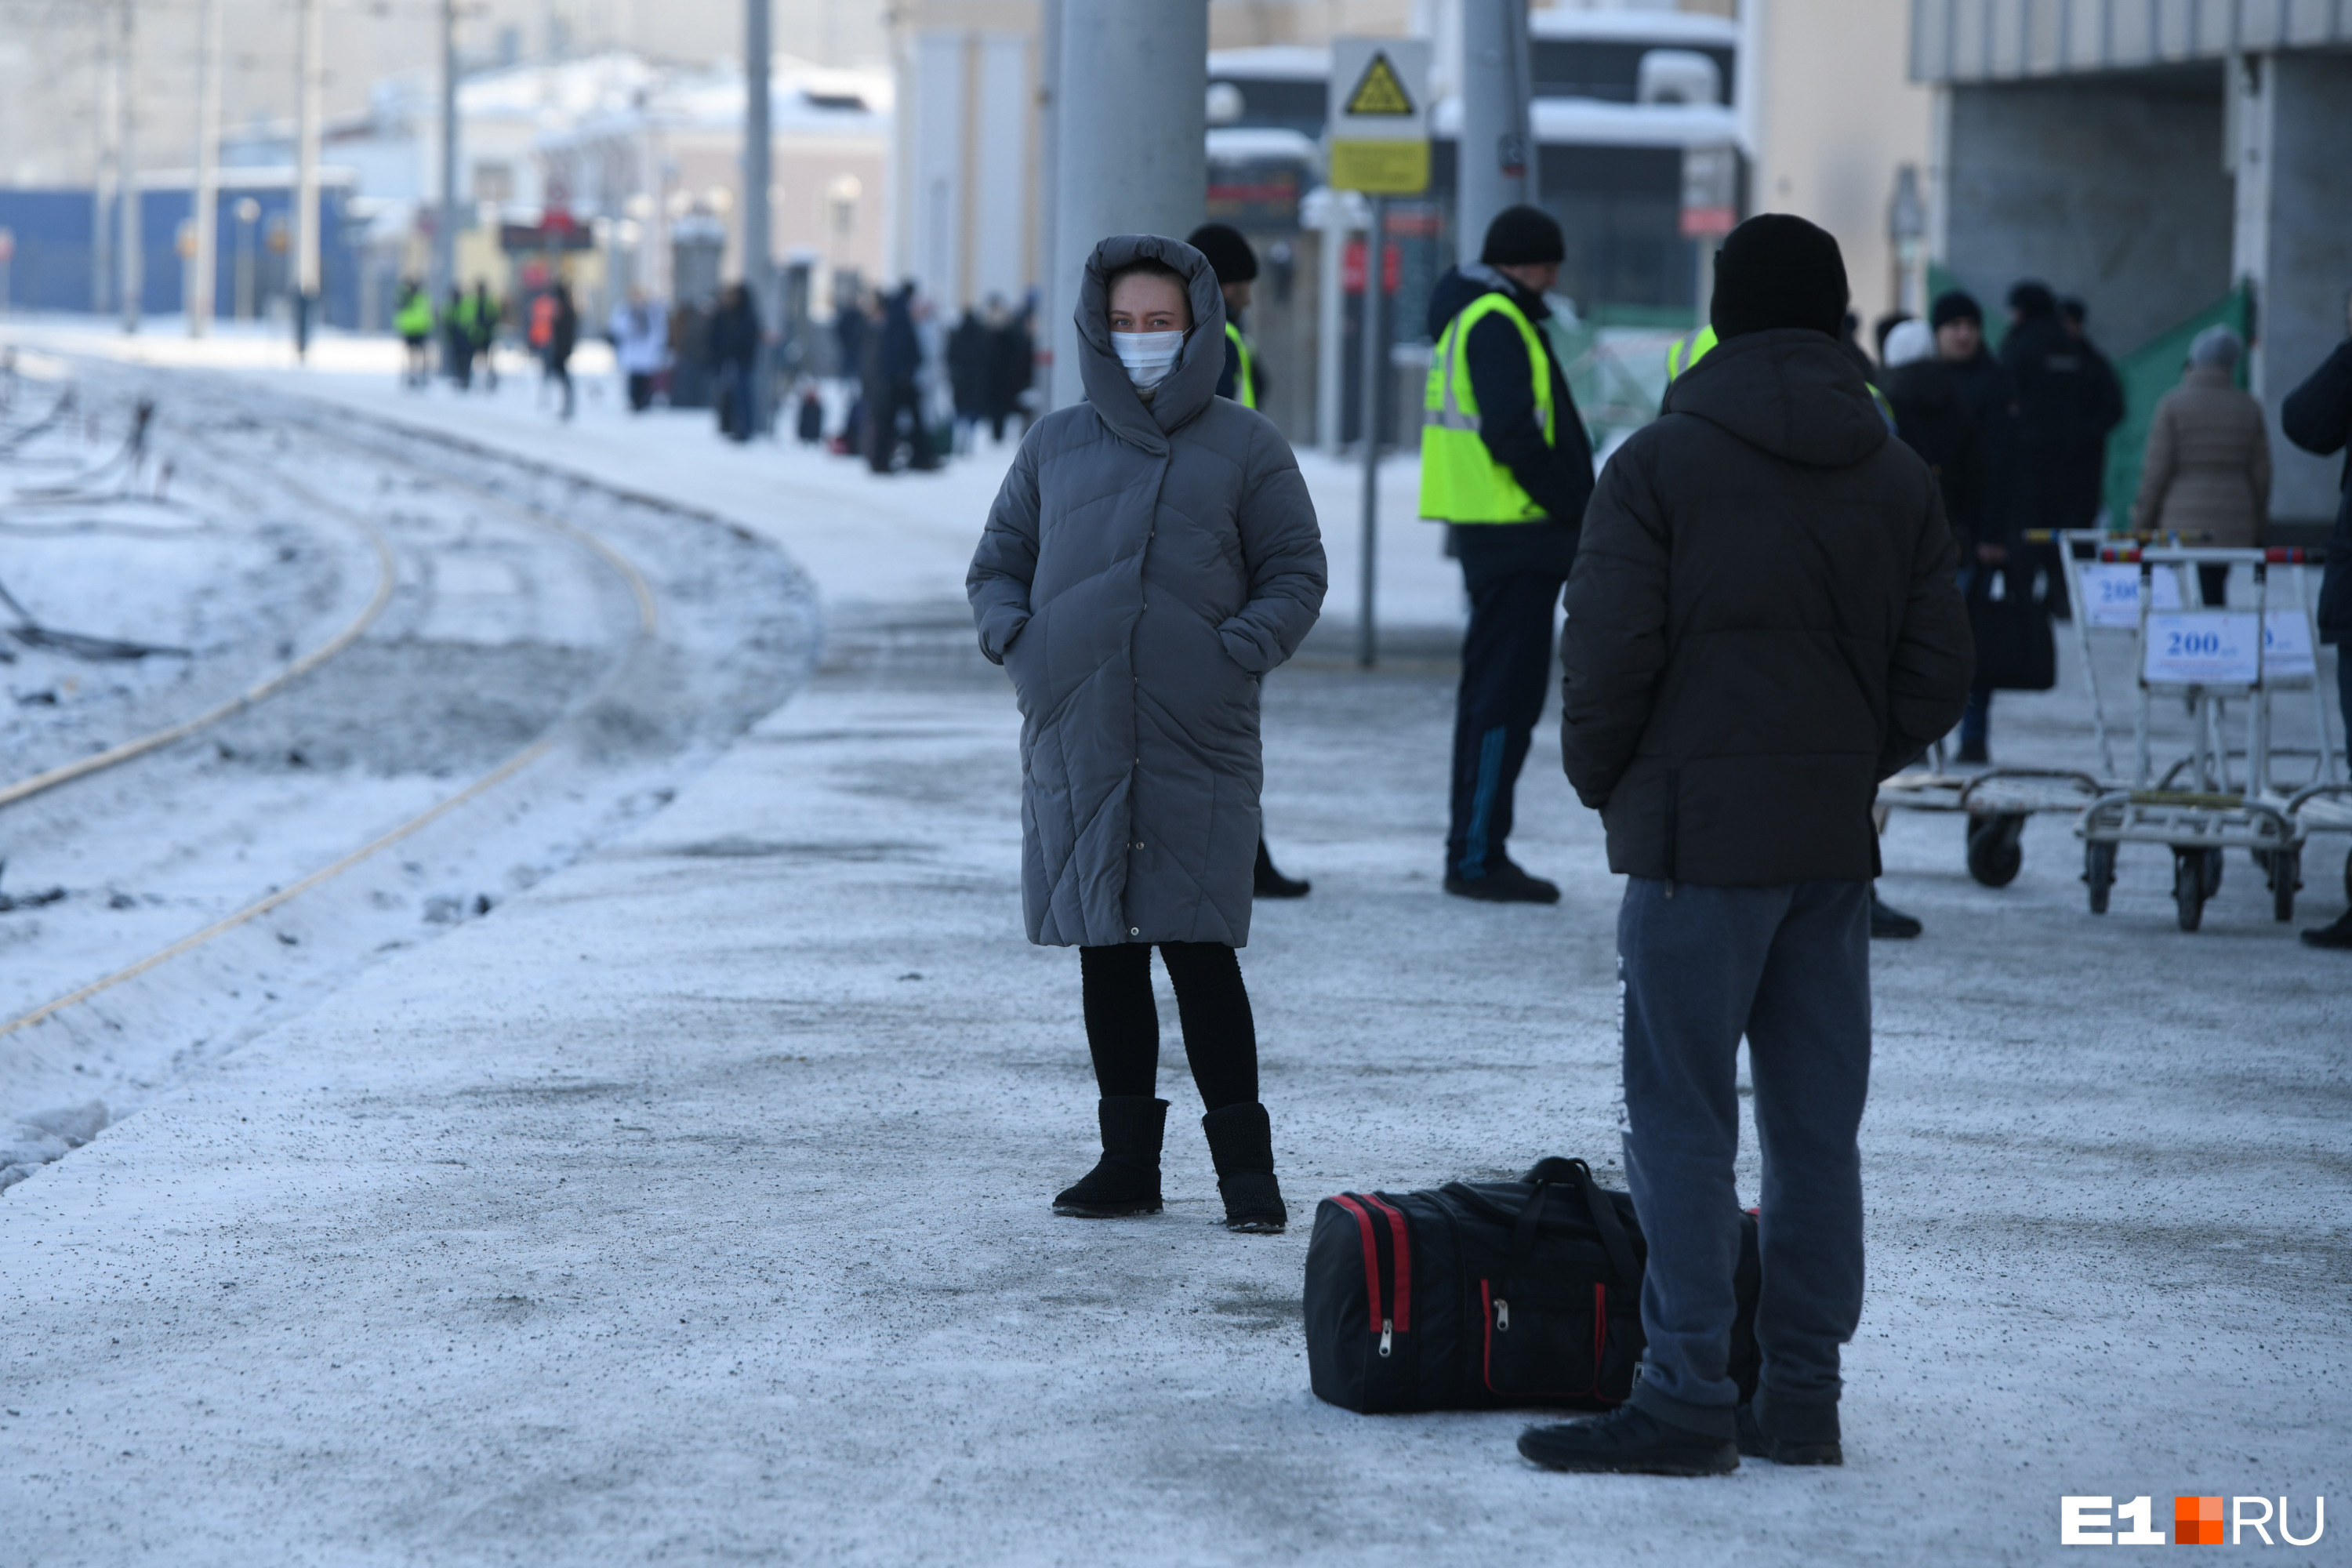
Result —
[{"label": "black leggings between the masked woman's grey coat and boots", "polygon": [[[1160,943],[1176,983],[1176,1016],[1192,1081],[1207,1110],[1258,1098],[1258,1025],[1249,1016],[1242,961],[1225,943]],[[1080,947],[1087,990],[1087,1048],[1103,1098],[1152,1095],[1160,1086],[1160,1009],[1152,1004],[1150,943]]]}]

